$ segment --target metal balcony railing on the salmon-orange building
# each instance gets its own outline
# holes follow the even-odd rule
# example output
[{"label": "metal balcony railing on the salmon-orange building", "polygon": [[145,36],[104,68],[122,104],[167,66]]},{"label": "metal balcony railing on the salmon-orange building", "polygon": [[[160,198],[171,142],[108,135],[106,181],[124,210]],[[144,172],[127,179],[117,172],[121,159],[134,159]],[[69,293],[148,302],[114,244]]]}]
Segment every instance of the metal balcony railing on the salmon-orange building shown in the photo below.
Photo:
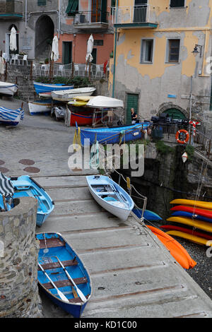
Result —
[{"label": "metal balcony railing on the salmon-orange building", "polygon": [[83,23],[108,23],[107,11],[79,11],[73,18],[73,24]]}]

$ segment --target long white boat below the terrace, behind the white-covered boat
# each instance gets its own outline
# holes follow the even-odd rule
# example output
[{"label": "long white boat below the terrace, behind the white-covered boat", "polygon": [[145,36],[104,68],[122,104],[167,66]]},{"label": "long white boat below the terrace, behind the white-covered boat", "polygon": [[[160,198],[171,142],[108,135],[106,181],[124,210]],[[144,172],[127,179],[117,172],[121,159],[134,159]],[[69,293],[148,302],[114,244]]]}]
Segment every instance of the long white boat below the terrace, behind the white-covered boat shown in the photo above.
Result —
[{"label": "long white boat below the terrace, behind the white-covered boat", "polygon": [[59,91],[52,91],[52,99],[59,100],[63,102],[69,102],[74,97],[77,96],[89,96],[92,95],[95,91],[95,88],[78,88],[72,90],[59,90]]}]

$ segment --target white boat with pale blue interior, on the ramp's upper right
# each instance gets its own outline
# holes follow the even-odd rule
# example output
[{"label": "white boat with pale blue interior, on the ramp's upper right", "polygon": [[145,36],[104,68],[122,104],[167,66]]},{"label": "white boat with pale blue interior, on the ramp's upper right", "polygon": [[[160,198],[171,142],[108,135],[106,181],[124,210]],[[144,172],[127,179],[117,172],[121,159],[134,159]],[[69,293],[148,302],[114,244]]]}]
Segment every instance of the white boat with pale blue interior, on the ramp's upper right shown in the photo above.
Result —
[{"label": "white boat with pale blue interior, on the ramp's upper right", "polygon": [[127,220],[134,201],[121,186],[103,175],[89,175],[86,180],[90,194],[102,208],[123,221]]}]

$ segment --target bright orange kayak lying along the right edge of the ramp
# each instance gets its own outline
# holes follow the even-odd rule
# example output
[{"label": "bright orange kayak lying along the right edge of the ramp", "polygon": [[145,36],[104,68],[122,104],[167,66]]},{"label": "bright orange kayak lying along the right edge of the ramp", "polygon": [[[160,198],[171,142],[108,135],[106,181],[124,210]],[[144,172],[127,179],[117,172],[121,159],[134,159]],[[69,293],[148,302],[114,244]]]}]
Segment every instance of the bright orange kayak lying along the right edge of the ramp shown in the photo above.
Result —
[{"label": "bright orange kayak lying along the right edge of the ramp", "polygon": [[165,245],[165,247],[170,251],[170,254],[176,259],[176,261],[182,266],[182,268],[194,268],[196,266],[196,261],[192,259],[186,249],[182,247],[179,242],[177,242],[173,237],[167,233],[159,230],[153,226],[147,226],[160,241]]}]

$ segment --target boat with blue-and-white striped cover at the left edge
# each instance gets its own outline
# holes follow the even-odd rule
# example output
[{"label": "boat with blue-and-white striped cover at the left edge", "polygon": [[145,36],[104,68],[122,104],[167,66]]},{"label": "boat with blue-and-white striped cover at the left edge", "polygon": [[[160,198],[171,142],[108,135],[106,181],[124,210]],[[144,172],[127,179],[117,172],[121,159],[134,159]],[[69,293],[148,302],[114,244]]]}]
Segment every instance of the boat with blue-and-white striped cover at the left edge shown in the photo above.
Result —
[{"label": "boat with blue-and-white striped cover at the left edge", "polygon": [[0,107],[0,124],[6,124],[7,126],[17,126],[20,120],[24,118],[23,108],[8,109],[6,107]]}]

